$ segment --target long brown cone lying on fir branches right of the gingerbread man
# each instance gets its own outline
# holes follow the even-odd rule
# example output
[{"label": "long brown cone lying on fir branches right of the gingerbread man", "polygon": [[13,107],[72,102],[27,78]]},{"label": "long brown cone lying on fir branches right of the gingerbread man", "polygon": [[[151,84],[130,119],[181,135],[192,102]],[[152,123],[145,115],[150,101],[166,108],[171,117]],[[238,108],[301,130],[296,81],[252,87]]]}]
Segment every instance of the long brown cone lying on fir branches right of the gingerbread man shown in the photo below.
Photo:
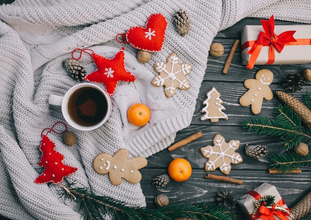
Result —
[{"label": "long brown cone lying on fir branches right of the gingerbread man", "polygon": [[301,117],[308,128],[311,128],[311,110],[307,106],[286,92],[276,91],[276,95]]}]

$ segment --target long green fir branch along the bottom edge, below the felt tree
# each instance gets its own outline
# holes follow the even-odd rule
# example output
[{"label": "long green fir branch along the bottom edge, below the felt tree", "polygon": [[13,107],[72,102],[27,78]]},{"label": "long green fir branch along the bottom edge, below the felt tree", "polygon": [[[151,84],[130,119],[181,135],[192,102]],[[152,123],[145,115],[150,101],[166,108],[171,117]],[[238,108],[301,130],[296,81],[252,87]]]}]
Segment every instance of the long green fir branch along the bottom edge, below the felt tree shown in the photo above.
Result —
[{"label": "long green fir branch along the bottom edge, below the felt tree", "polygon": [[87,188],[73,188],[59,184],[64,190],[65,199],[76,201],[83,212],[84,220],[101,220],[102,215],[122,220],[171,220],[172,218],[189,217],[202,220],[234,220],[234,213],[226,207],[207,207],[204,203],[198,205],[169,205],[157,209],[129,207],[126,203],[108,196],[97,196]]}]

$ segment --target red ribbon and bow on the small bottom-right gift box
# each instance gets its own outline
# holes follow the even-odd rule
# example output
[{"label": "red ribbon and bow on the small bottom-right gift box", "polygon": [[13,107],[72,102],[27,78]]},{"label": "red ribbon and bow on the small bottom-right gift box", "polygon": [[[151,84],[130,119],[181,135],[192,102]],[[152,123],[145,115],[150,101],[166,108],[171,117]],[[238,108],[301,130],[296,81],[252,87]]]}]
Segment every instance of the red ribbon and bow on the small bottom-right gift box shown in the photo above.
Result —
[{"label": "red ribbon and bow on the small bottom-right gift box", "polygon": [[[248,194],[254,197],[255,200],[259,200],[262,198],[259,193],[253,190],[248,192]],[[282,210],[276,209],[276,207],[282,207],[285,205],[285,202],[283,199],[280,199],[277,203],[272,204],[271,208],[268,208],[265,205],[266,205],[266,202],[263,202],[260,205],[259,210],[255,213],[254,216],[249,215],[250,219],[276,220],[275,216],[277,216],[281,220],[288,220],[287,216],[290,216],[288,213],[291,212],[289,208],[285,208],[285,210],[287,210],[288,213]]]}]

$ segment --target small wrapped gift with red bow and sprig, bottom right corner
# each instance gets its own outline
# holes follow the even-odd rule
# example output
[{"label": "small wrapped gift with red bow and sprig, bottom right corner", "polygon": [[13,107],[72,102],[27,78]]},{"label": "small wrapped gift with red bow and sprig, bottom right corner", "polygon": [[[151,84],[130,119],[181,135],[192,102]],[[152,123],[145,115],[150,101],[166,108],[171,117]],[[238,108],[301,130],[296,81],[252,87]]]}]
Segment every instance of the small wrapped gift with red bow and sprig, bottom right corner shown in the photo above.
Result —
[{"label": "small wrapped gift with red bow and sprig, bottom right corner", "polygon": [[268,183],[263,183],[240,197],[237,204],[250,220],[292,220],[293,218],[275,186]]}]

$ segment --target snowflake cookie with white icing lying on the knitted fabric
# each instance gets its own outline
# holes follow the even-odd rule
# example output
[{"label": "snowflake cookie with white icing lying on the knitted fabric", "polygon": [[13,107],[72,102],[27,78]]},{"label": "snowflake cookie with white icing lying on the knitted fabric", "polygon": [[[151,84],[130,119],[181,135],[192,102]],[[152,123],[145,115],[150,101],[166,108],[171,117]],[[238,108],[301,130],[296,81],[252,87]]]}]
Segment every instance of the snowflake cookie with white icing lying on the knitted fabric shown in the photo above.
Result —
[{"label": "snowflake cookie with white icing lying on the knitted fabric", "polygon": [[190,73],[191,69],[192,66],[188,63],[180,64],[179,57],[172,53],[167,57],[166,63],[155,63],[155,70],[159,75],[155,76],[151,83],[157,87],[164,86],[164,93],[170,98],[176,93],[177,88],[190,89],[189,81],[185,76]]}]

